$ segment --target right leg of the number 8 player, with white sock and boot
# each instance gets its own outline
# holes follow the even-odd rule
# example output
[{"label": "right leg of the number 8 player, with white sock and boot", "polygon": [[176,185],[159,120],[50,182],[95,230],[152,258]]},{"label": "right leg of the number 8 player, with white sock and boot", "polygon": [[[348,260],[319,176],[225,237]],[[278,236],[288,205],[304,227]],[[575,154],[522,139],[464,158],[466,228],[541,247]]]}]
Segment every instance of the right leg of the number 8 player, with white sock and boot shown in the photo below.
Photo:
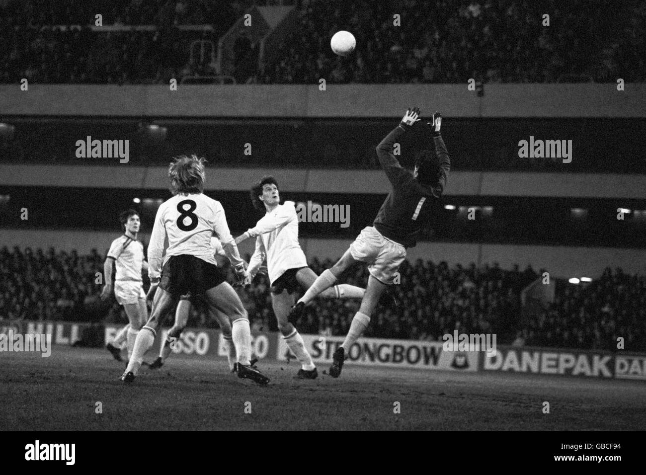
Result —
[{"label": "right leg of the number 8 player, with white sock and boot", "polygon": [[236,348],[236,373],[259,385],[269,383],[269,378],[251,364],[251,328],[249,317],[240,297],[227,282],[222,282],[205,292],[209,309],[220,310],[231,319],[231,338]]}]

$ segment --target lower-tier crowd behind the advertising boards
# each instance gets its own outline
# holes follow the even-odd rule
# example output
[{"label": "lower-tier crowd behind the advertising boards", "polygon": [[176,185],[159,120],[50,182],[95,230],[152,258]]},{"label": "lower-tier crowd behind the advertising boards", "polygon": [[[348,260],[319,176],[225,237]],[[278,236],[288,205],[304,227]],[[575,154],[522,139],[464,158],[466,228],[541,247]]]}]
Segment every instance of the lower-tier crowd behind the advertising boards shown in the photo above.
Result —
[{"label": "lower-tier crowd behind the advertising boards", "polygon": [[[322,273],[331,260],[313,259]],[[0,319],[104,321],[125,324],[114,297],[101,302],[103,257],[93,250],[79,256],[49,249],[0,251]],[[521,290],[538,277],[530,267],[504,270],[497,264],[468,267],[417,260],[402,264],[395,286],[398,308],[378,307],[367,337],[442,341],[453,333],[495,333],[497,343],[612,349],[617,337],[630,348],[646,349],[646,280],[607,269],[587,287],[557,286],[556,299],[537,318],[521,317]],[[229,279],[233,271],[229,269]],[[365,286],[364,266],[349,270],[344,282]],[[277,331],[269,281],[258,276],[239,291],[255,331]],[[345,335],[359,301],[317,299],[298,324],[302,333]],[[167,322],[168,324],[171,321]],[[203,302],[195,302],[189,326],[217,328]],[[514,337],[516,338],[514,340]]]}]

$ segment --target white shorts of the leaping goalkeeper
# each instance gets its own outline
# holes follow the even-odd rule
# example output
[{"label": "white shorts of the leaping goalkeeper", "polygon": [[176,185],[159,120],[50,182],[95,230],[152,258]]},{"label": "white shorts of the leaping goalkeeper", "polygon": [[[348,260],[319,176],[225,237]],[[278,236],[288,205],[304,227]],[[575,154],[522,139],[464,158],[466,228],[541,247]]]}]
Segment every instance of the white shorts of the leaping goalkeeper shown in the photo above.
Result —
[{"label": "white shorts of the leaping goalkeeper", "polygon": [[356,260],[368,263],[368,272],[382,284],[392,284],[395,273],[404,259],[406,248],[391,241],[373,226],[364,227],[355,242],[350,245],[350,254]]}]

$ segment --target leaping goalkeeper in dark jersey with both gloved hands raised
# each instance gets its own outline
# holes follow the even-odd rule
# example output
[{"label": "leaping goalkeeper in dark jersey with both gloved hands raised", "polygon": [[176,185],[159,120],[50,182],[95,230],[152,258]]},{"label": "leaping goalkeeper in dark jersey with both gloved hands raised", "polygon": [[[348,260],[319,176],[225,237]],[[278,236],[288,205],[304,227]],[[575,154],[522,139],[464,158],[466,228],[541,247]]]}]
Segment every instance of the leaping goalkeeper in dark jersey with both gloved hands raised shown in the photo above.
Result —
[{"label": "leaping goalkeeper in dark jersey with both gloved hands raised", "polygon": [[383,291],[393,283],[400,264],[406,259],[406,248],[417,244],[422,227],[432,217],[430,202],[440,198],[446,185],[451,163],[440,134],[442,116],[433,114],[427,125],[435,144],[435,154],[425,150],[415,163],[413,173],[402,168],[393,154],[393,145],[419,121],[419,109],[408,109],[401,123],[377,145],[377,156],[392,189],[373,222],[365,227],[339,262],[327,269],[305,295],[291,309],[289,320],[297,321],[306,304],[322,291],[335,284],[341,273],[356,262],[366,262],[370,277],[366,295],[359,311],[352,319],[348,335],[333,354],[329,368],[332,377],[339,377],[346,353],[368,328],[370,315],[375,310]]}]

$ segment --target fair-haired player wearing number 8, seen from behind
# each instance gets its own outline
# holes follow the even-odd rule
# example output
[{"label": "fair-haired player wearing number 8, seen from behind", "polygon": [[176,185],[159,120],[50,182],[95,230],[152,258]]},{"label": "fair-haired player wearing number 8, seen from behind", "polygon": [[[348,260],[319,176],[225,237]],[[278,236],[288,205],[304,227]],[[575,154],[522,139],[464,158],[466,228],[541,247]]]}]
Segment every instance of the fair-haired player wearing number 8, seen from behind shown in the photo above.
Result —
[{"label": "fair-haired player wearing number 8, seen from behind", "polygon": [[148,295],[154,296],[152,314],[137,335],[132,357],[120,379],[127,383],[134,381],[143,354],[154,342],[161,318],[174,308],[181,295],[191,292],[203,293],[209,309],[220,310],[231,319],[238,377],[265,385],[269,378],[251,364],[247,311],[226,282],[211,248],[211,238],[218,237],[236,273],[244,278],[244,261],[231,237],[224,209],[220,202],[202,193],[206,178],[204,159],[195,155],[179,156],[171,163],[168,174],[174,196],[157,210],[148,246],[151,278]]}]

